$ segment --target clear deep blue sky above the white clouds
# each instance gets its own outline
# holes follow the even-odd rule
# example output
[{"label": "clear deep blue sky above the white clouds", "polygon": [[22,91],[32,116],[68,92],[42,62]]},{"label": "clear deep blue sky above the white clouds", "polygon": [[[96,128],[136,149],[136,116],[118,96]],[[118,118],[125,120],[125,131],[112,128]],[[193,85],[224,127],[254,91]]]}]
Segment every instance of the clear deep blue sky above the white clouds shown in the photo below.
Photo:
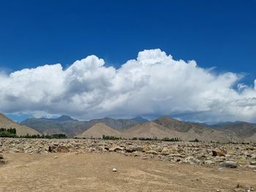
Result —
[{"label": "clear deep blue sky above the white clouds", "polygon": [[118,69],[139,51],[159,48],[175,60],[216,67],[214,74],[246,74],[241,82],[252,87],[255,18],[253,0],[0,1],[0,71],[10,74],[45,64],[66,69],[92,54]]}]

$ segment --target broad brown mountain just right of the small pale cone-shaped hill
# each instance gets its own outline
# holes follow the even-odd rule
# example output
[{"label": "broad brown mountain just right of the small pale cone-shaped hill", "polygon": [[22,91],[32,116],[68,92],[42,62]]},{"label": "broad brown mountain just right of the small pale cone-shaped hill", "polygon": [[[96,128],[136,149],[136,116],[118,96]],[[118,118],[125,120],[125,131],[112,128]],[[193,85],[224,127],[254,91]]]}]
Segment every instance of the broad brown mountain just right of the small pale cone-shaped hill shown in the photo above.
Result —
[{"label": "broad brown mountain just right of the small pale cone-shaped hill", "polygon": [[126,137],[178,137],[184,141],[199,139],[201,141],[230,142],[240,141],[234,134],[224,134],[200,123],[187,123],[173,118],[162,117],[149,123],[132,126],[123,131]]}]

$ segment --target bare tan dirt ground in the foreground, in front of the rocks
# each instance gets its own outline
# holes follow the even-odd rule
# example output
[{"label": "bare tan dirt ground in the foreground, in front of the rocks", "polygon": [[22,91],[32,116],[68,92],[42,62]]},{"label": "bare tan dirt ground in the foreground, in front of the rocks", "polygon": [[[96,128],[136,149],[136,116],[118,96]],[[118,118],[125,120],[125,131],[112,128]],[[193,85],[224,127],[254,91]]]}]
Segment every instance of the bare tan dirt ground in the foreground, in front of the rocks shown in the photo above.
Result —
[{"label": "bare tan dirt ground in the foreground, in front of the rocks", "polygon": [[1,192],[247,191],[249,187],[256,191],[256,173],[251,169],[219,170],[117,153],[3,155],[8,162],[0,165]]}]

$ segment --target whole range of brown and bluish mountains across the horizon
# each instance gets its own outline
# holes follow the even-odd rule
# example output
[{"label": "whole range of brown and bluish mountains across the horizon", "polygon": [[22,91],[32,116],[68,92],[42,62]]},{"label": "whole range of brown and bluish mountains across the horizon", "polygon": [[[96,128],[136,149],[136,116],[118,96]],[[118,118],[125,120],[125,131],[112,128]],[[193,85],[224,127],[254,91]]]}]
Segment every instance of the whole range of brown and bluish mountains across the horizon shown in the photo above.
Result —
[{"label": "whole range of brown and bluish mountains across the horizon", "polygon": [[104,134],[127,139],[178,137],[184,141],[199,139],[217,142],[256,142],[256,124],[241,121],[211,125],[185,122],[170,117],[160,117],[151,121],[142,117],[80,121],[62,115],[59,118],[28,118],[18,124],[1,114],[1,127],[16,128],[18,134],[66,134],[68,137],[80,138],[102,138]]}]

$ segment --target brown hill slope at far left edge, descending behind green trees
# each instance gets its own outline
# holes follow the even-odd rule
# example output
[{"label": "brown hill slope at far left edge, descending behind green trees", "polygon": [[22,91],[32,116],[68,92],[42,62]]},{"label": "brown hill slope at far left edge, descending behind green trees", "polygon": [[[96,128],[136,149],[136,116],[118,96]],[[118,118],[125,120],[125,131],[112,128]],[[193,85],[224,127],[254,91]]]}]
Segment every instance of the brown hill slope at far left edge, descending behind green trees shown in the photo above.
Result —
[{"label": "brown hill slope at far left edge, descending behind green trees", "polygon": [[2,113],[0,113],[0,128],[15,128],[18,136],[26,134],[39,134],[39,132],[33,128],[29,128],[28,126],[20,126],[18,123],[13,122]]}]

